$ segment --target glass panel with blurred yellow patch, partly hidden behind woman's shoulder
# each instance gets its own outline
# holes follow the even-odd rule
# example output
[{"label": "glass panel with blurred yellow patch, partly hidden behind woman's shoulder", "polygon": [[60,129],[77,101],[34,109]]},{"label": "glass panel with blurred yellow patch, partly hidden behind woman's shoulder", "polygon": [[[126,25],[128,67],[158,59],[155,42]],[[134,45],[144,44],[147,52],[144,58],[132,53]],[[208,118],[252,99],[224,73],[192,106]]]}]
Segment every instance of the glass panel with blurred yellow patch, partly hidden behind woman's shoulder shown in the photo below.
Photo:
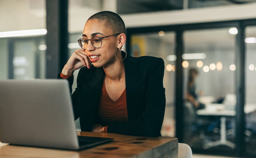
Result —
[{"label": "glass panel with blurred yellow patch, partly hidden behind woman's shoulder", "polygon": [[162,125],[162,136],[175,136],[175,33],[159,31],[131,36],[131,52],[134,57],[161,57],[165,62],[164,88],[166,95],[165,118]]}]

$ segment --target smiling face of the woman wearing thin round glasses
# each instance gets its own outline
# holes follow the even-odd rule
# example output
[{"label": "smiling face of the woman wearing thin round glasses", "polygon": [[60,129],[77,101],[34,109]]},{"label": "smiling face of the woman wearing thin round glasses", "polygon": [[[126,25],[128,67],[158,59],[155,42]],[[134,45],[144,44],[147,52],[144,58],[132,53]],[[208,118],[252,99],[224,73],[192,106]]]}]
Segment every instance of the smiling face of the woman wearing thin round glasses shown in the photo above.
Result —
[{"label": "smiling face of the woman wearing thin round glasses", "polygon": [[[97,19],[88,20],[84,26],[83,38],[91,39],[92,37],[105,37],[113,35],[113,30],[104,25],[104,21],[100,22]],[[100,48],[94,48],[91,41],[88,42],[87,48],[84,50],[89,57],[94,67],[103,67],[107,64],[115,62],[115,53],[118,49],[119,35],[110,36],[102,39]],[[96,58],[95,58],[96,57]]]}]

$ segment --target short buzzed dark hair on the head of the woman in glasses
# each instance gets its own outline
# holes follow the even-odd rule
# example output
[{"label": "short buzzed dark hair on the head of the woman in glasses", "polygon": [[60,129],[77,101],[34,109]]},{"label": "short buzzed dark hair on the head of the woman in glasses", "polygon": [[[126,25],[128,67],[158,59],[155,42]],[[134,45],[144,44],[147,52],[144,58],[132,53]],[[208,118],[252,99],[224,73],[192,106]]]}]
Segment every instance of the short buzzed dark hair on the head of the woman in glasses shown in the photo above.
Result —
[{"label": "short buzzed dark hair on the head of the woman in glasses", "polygon": [[125,24],[123,19],[116,13],[110,11],[102,11],[92,15],[87,21],[97,19],[104,21],[105,26],[113,30],[113,34],[124,33],[126,34]]}]

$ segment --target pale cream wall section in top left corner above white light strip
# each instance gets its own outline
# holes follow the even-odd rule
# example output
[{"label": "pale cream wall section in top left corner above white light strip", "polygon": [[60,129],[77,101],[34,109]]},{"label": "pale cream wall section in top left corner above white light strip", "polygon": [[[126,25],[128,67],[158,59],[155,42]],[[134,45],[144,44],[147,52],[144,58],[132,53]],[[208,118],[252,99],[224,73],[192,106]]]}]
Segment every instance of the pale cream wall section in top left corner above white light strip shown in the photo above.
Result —
[{"label": "pale cream wall section in top left corner above white light strip", "polygon": [[46,28],[45,0],[1,0],[0,32]]}]

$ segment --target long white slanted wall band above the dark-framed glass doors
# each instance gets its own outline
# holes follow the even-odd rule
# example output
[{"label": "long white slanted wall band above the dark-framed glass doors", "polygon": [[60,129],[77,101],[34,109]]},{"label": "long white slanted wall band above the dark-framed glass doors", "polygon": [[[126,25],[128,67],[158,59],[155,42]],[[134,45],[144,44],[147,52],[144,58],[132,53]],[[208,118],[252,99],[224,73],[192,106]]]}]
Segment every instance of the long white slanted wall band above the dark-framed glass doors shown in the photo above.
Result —
[{"label": "long white slanted wall band above the dark-framed glass doors", "polygon": [[256,3],[121,15],[126,27],[162,26],[256,18]]}]

